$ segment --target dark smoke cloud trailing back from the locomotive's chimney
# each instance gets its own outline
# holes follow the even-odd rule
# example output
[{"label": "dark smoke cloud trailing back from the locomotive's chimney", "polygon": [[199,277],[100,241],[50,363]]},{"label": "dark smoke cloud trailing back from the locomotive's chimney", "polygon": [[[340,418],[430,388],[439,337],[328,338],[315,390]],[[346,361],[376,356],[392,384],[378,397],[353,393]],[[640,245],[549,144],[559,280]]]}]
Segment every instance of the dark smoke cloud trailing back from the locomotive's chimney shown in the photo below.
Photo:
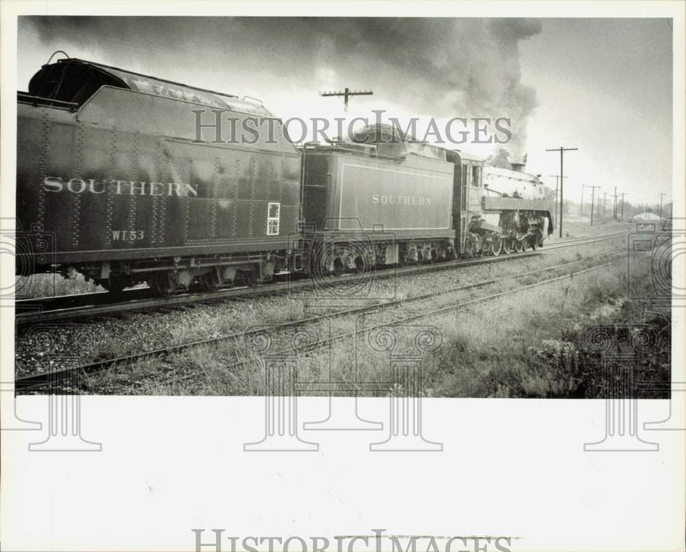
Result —
[{"label": "dark smoke cloud trailing back from the locomotive's chimney", "polygon": [[211,68],[227,92],[241,89],[234,72],[314,89],[318,70],[333,69],[340,86],[370,87],[418,115],[510,117],[513,157],[524,152],[536,107],[519,62],[519,43],[541,32],[536,19],[34,17],[29,24],[70,55],[69,46],[133,70],[123,62],[145,60],[162,78]]}]

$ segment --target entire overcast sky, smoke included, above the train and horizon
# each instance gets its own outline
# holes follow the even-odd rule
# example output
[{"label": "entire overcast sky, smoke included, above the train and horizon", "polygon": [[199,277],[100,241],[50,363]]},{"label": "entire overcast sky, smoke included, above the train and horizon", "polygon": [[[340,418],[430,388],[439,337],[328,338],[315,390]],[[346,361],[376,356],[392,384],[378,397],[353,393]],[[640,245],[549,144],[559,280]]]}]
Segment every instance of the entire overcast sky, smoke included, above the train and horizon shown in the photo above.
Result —
[{"label": "entire overcast sky, smoke included, above the train and horizon", "polygon": [[[528,172],[632,203],[671,198],[672,26],[665,19],[20,17],[19,88],[50,54],[259,97],[289,117],[342,117],[327,89],[373,89],[348,117],[510,117]],[[335,134],[335,133],[333,133]],[[421,137],[421,136],[420,136]],[[493,146],[465,143],[488,155]],[[665,199],[666,203],[667,199]]]}]

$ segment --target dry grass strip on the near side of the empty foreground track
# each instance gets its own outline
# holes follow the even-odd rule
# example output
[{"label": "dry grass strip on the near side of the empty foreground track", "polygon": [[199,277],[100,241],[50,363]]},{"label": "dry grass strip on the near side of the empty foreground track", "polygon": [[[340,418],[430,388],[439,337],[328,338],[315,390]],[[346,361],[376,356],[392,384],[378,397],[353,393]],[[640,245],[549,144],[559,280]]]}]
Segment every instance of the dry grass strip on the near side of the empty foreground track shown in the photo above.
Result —
[{"label": "dry grass strip on the near side of the empty foreground track", "polygon": [[[525,281],[509,282],[507,287],[514,290],[521,285]],[[573,279],[523,292],[513,291],[509,297],[423,321],[423,325],[438,328],[442,346],[423,356],[421,393],[503,398],[598,395],[602,389],[591,373],[598,372],[598,366],[580,367],[567,360],[571,352],[579,350],[580,336],[589,325],[639,317],[639,312],[630,312],[624,306],[624,290],[626,268],[620,261]],[[336,332],[352,328],[353,325],[344,327],[343,323],[337,323]],[[399,347],[414,343],[415,334],[415,328],[399,330],[396,334]],[[394,352],[399,351],[403,349]],[[408,352],[416,354],[416,349],[413,351],[410,345],[405,353]],[[237,359],[251,356],[256,359],[254,362],[232,368]],[[333,380],[338,382],[331,387],[334,395],[405,392],[398,389],[397,382],[390,381],[388,353],[372,347],[365,336],[358,336],[356,343],[346,339],[326,349],[300,353],[296,358],[300,382]],[[185,385],[172,376],[171,382],[165,384],[156,378],[153,383],[143,385],[139,392],[186,394],[192,386],[190,392],[213,395],[265,393],[263,364],[244,344],[221,343],[217,347],[192,349],[174,364],[194,382]],[[174,373],[178,378],[177,369]],[[379,380],[387,384],[381,387],[366,384]],[[303,384],[300,393],[321,395],[321,389]]]}]

